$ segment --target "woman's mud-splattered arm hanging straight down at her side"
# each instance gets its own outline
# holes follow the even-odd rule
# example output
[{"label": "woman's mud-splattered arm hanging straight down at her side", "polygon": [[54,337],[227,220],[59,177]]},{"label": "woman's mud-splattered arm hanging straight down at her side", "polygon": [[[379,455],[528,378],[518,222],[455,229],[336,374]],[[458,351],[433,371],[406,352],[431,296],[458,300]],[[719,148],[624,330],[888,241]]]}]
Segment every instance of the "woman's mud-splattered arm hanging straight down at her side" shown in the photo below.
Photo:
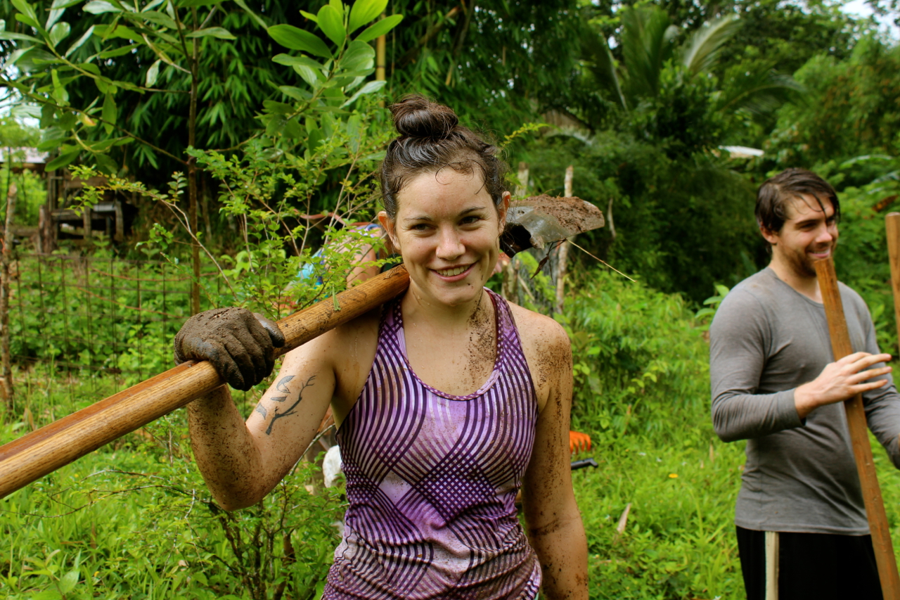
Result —
[{"label": "woman's mud-splattered arm hanging straight down at her side", "polygon": [[540,332],[538,343],[543,345],[542,352],[529,354],[535,358],[532,376],[538,396],[543,393],[545,403],[523,486],[528,539],[541,562],[544,595],[581,600],[588,597],[588,542],[572,491],[572,347],[563,328],[549,319],[532,331]]}]

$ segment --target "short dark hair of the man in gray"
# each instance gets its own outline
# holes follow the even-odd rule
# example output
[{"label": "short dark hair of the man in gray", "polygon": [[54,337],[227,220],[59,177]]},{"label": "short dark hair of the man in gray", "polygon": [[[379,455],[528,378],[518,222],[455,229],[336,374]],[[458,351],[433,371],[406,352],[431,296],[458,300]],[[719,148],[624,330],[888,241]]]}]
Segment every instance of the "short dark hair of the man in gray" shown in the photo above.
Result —
[{"label": "short dark hair of the man in gray", "polygon": [[794,198],[811,195],[824,212],[824,201],[834,208],[834,219],[841,219],[841,203],[837,192],[822,177],[806,168],[788,168],[771,177],[760,186],[756,193],[756,223],[773,233],[778,233],[788,218],[788,205]]}]

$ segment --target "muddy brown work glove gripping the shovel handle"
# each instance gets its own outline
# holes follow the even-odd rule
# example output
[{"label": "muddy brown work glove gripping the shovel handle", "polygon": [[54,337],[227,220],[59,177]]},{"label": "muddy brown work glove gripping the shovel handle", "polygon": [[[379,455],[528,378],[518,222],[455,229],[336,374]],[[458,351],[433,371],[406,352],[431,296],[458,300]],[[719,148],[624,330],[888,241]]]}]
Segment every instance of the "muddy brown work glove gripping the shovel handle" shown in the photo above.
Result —
[{"label": "muddy brown work glove gripping the shovel handle", "polygon": [[175,364],[209,360],[235,389],[247,391],[275,367],[284,334],[274,321],[230,306],[194,314],[175,335]]}]

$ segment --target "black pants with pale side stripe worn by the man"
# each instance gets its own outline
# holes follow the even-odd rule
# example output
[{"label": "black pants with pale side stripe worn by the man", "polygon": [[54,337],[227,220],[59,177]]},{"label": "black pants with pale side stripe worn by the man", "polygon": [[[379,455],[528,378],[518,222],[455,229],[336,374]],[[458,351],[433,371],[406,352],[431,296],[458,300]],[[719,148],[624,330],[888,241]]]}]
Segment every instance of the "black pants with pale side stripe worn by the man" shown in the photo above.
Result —
[{"label": "black pants with pale side stripe worn by the man", "polygon": [[[872,537],[779,533],[779,600],[882,600]],[[737,528],[747,600],[766,598],[765,532]]]}]

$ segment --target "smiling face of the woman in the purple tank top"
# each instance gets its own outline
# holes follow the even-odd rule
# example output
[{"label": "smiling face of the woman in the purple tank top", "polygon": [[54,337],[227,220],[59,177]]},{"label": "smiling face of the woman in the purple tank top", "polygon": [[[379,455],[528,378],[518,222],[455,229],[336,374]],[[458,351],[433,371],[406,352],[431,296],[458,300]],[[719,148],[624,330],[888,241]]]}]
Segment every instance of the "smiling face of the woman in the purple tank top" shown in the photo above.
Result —
[{"label": "smiling face of the woman in the purple tank top", "polygon": [[462,305],[480,297],[500,255],[500,211],[477,170],[443,168],[420,173],[397,195],[395,220],[379,220],[410,271],[410,286],[444,305]]}]

